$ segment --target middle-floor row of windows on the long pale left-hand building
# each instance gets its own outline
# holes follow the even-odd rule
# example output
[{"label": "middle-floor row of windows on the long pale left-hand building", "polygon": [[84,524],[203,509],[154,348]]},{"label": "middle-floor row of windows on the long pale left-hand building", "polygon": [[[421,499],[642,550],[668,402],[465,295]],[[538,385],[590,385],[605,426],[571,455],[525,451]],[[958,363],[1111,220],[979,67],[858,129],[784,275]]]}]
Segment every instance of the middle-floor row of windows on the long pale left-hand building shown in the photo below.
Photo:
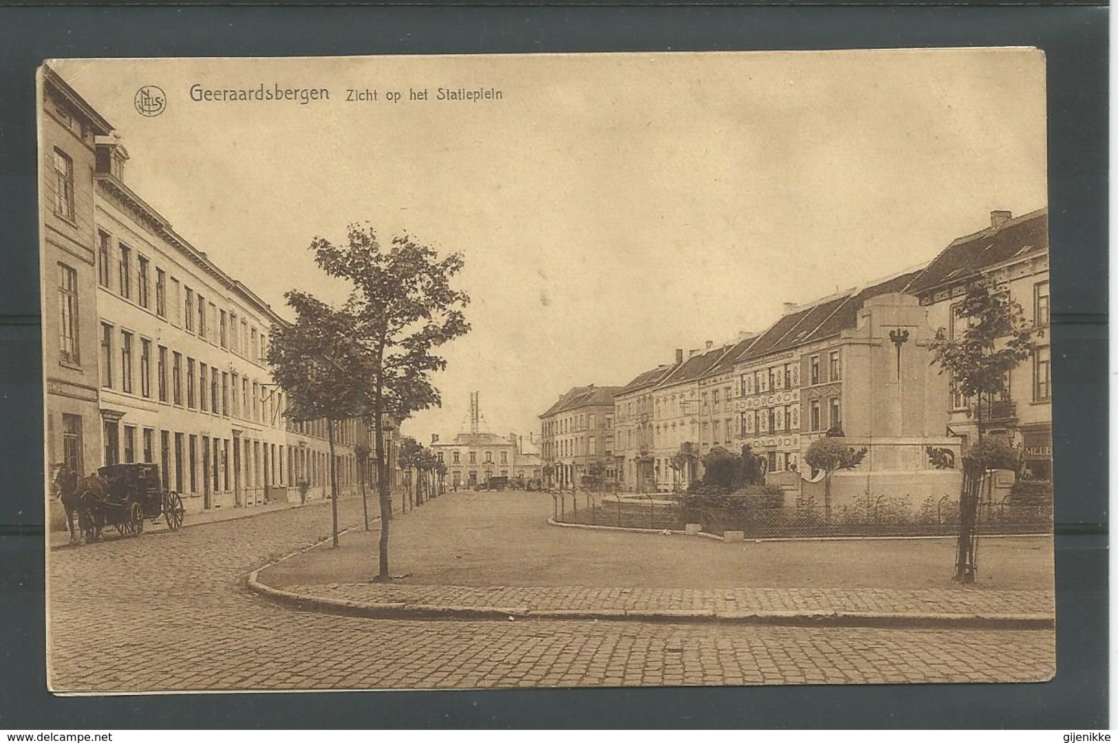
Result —
[{"label": "middle-floor row of windows on the long pale left-hand building", "polygon": [[[152,341],[140,337],[138,346],[135,334],[126,330],[120,331],[120,355],[116,356],[116,336],[117,331],[113,325],[101,324],[101,385],[105,389],[125,394],[139,393],[142,398],[151,399],[154,375],[154,397],[160,402],[271,426],[275,426],[277,418],[283,415],[283,392],[272,384],[249,381],[247,377],[235,372],[219,371],[218,368],[190,356],[186,356],[183,363],[183,355],[165,345],[155,346],[153,358]],[[139,390],[135,387],[136,366]]]}]

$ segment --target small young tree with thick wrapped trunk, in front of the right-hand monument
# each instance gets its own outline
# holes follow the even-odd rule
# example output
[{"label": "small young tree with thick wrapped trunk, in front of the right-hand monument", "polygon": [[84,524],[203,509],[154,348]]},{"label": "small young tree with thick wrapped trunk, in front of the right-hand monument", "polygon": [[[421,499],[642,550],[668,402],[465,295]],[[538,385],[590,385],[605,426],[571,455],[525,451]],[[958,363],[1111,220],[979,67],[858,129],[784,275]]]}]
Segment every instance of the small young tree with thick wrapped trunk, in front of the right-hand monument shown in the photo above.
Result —
[{"label": "small young tree with thick wrapped trunk, in front of the right-hand monument", "polygon": [[[1034,350],[1033,336],[1043,331],[1025,322],[1024,311],[1008,292],[998,290],[988,280],[967,287],[956,309],[961,332],[950,337],[947,330],[936,331],[931,343],[932,363],[951,377],[956,392],[976,401],[975,423],[978,444],[983,441],[983,400],[993,407],[995,397],[1005,391],[1010,372]],[[975,447],[977,448],[977,446]],[[996,458],[996,457],[995,457]],[[963,489],[959,493],[959,542],[955,580],[973,583],[977,564],[978,499],[991,459],[979,449],[976,456],[963,457]]]}]

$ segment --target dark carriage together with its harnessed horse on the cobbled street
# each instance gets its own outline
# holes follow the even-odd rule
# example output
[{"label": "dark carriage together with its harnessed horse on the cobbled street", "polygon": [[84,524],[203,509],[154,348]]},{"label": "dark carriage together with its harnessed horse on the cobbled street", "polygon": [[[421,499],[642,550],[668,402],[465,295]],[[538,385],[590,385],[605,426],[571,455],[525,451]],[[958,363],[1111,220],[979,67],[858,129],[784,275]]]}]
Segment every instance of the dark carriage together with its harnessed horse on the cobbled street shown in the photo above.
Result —
[{"label": "dark carriage together with its harnessed horse on the cobbled street", "polygon": [[160,517],[171,531],[182,526],[182,497],[162,488],[159,465],[106,465],[78,489],[78,527],[87,542],[100,537],[105,526],[121,536],[141,534],[144,521],[155,523]]}]

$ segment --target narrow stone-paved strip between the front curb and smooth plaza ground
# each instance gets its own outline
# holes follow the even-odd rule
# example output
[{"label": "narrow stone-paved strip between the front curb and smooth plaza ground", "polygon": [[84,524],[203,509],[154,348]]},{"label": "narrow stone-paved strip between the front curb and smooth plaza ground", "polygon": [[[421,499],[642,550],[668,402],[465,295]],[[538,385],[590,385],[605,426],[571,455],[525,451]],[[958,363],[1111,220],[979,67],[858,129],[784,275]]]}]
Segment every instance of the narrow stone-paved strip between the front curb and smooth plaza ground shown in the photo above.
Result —
[{"label": "narrow stone-paved strip between the front curb and smooth plaza ground", "polygon": [[284,585],[310,597],[427,606],[502,607],[522,610],[749,611],[804,613],[904,612],[989,617],[1053,616],[1050,591],[967,591],[965,589],[628,589],[582,587],[376,585],[330,583]]}]

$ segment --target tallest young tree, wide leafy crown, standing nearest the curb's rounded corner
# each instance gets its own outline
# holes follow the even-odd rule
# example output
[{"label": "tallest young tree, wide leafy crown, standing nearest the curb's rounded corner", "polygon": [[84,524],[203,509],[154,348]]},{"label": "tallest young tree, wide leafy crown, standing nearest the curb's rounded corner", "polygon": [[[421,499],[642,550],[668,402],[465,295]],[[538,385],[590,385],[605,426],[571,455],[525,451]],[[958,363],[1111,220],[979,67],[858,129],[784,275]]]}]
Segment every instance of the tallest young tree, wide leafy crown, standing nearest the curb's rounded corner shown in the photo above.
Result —
[{"label": "tallest young tree, wide leafy crown, standing nearest the curb's rounded corner", "polygon": [[378,581],[389,580],[388,492],[383,425],[440,402],[430,374],[446,368],[434,350],[470,331],[464,308],[468,295],[451,285],[464,261],[408,236],[382,246],[369,226],[351,225],[344,245],[324,238],[311,244],[315,263],[353,286],[350,306],[358,320],[354,339],[367,351],[360,373],[371,398],[377,483],[380,495]]}]

